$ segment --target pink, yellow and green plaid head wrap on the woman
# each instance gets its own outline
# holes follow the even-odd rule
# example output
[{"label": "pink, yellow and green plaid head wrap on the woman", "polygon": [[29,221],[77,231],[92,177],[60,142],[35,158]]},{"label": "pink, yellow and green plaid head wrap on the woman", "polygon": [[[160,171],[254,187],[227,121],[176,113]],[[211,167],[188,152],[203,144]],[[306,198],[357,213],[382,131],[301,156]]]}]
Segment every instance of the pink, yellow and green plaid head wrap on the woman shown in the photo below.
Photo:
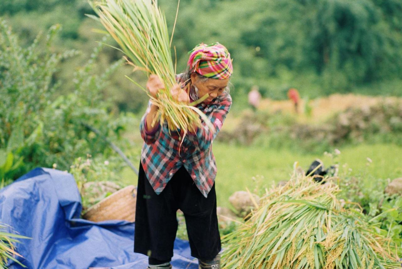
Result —
[{"label": "pink, yellow and green plaid head wrap on the woman", "polygon": [[224,45],[217,42],[211,45],[201,43],[189,54],[187,65],[191,72],[214,79],[227,79],[233,73],[232,59]]}]

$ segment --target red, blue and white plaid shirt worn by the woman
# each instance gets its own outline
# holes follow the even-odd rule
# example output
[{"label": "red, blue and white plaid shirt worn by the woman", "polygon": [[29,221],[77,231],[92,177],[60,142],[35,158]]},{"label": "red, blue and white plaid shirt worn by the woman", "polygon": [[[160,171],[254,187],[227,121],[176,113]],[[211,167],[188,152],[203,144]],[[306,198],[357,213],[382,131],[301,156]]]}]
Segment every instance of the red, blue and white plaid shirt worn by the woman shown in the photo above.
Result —
[{"label": "red, blue and white plaid shirt worn by the woman", "polygon": [[139,125],[145,141],[141,163],[156,194],[163,191],[174,173],[183,165],[200,192],[207,197],[217,172],[212,141],[222,127],[231,105],[232,98],[228,93],[217,96],[209,104],[198,104],[196,107],[211,120],[215,131],[210,130],[201,120],[202,127],[195,133],[187,134],[183,141],[179,132],[169,134],[166,122],[155,126],[152,132],[146,132],[145,116],[148,112],[144,114]]}]

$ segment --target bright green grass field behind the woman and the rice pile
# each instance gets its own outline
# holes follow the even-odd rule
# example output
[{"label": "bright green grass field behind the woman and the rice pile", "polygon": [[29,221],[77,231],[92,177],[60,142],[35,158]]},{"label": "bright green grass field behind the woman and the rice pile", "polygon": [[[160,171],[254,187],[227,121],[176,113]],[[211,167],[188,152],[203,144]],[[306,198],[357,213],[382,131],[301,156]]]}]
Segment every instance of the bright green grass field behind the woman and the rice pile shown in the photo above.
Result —
[{"label": "bright green grass field behind the woman and the rice pile", "polygon": [[[330,156],[303,154],[290,150],[274,150],[258,147],[234,146],[225,143],[213,143],[218,173],[216,191],[218,206],[229,206],[228,198],[238,190],[260,192],[265,187],[281,180],[287,180],[293,171],[293,163],[305,170],[314,159],[320,158],[325,166],[334,162],[340,165],[340,173],[352,169],[351,174],[366,179],[369,186],[373,180],[393,179],[402,176],[402,147],[384,144],[361,144],[339,148],[340,155],[335,159]],[[137,149],[135,151],[138,151]],[[139,155],[139,152],[137,154]],[[367,161],[367,157],[372,163]],[[345,167],[344,164],[347,164]],[[369,164],[369,165],[367,165]],[[137,165],[137,163],[135,163]],[[124,184],[137,184],[136,175],[129,169],[122,171]]]}]

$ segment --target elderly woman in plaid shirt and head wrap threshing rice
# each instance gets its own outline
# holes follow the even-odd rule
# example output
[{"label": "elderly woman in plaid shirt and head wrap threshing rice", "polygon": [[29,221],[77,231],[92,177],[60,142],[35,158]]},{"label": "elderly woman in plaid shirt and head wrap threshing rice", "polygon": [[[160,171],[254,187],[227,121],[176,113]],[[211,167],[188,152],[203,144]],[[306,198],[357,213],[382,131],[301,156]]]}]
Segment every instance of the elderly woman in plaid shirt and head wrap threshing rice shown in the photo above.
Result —
[{"label": "elderly woman in plaid shirt and head wrap threshing rice", "polygon": [[[208,94],[197,108],[211,120],[214,130],[201,120],[201,126],[182,138],[178,132],[169,133],[166,124],[157,122],[152,127],[158,111],[152,102],[141,120],[145,143],[138,175],[134,252],[148,255],[148,268],[172,268],[178,209],[184,213],[191,255],[199,260],[199,268],[219,268],[212,141],[232,105],[228,91],[232,71],[232,59],[223,45],[199,44],[190,51],[187,70],[176,76],[179,85],[189,90],[177,100],[193,102]],[[152,96],[163,87],[156,75],[150,76],[147,88]]]}]

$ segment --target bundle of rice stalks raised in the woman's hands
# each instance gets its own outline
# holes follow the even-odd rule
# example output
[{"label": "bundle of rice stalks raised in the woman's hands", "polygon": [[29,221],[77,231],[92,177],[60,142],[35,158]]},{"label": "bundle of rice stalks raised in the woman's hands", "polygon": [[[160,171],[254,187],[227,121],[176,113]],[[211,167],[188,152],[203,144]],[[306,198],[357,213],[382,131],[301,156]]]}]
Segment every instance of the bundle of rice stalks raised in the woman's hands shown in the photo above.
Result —
[{"label": "bundle of rice stalks raised in the woman's hands", "polygon": [[[170,92],[176,84],[175,70],[170,53],[166,18],[158,8],[157,1],[90,0],[90,4],[98,17],[87,16],[103,24],[121,48],[115,49],[127,55],[126,60],[135,67],[134,70],[145,71],[148,75],[156,74],[162,80],[165,88],[154,98],[148,90],[129,78],[146,91],[152,102],[159,107],[156,118],[160,116],[161,123],[166,120],[169,130],[182,130],[184,134],[188,130],[194,131],[195,124],[200,125],[199,116],[209,123],[206,116],[193,106],[195,103],[180,104],[174,100]],[[198,102],[205,98],[207,96],[203,96]]]}]

